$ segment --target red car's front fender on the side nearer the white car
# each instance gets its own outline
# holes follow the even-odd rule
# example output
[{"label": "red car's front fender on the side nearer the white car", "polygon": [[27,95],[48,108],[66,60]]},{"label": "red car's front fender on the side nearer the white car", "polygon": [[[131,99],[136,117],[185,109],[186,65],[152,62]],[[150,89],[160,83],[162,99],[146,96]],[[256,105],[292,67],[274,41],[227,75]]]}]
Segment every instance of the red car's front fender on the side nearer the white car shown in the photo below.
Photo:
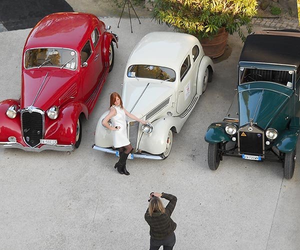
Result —
[{"label": "red car's front fender on the side nearer the white car", "polygon": [[55,120],[47,118],[45,139],[57,139],[58,144],[75,144],[77,119],[83,113],[88,118],[88,109],[82,102],[71,102],[59,109]]}]

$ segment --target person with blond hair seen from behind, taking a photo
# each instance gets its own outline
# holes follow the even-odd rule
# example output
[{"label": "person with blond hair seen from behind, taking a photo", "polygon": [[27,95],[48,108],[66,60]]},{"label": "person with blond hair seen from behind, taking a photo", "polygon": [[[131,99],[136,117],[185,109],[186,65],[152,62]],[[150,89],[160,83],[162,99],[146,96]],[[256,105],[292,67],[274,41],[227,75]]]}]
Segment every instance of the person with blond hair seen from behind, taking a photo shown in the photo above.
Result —
[{"label": "person with blond hair seen from behind, taking a photo", "polygon": [[[166,207],[163,206],[161,198],[169,200]],[[158,250],[163,245],[163,250],[171,250],[176,242],[174,230],[176,223],[171,219],[177,198],[168,193],[151,192],[149,207],[144,218],[150,226],[150,249]]]}]

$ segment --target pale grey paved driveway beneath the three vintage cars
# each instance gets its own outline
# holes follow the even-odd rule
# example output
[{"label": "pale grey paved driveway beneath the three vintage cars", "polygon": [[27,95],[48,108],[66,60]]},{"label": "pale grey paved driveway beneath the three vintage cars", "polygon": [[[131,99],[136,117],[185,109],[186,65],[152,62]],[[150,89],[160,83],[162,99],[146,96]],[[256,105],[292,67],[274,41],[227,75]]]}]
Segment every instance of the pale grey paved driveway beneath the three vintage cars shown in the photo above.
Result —
[{"label": "pale grey paved driveway beneath the three vintage cars", "polygon": [[[242,44],[229,37],[231,55],[215,64],[213,81],[200,97],[169,157],[127,162],[129,176],[113,168],[116,157],[91,149],[97,118],[121,92],[124,67],[147,32],[170,30],[150,19],[104,19],[119,35],[115,63],[96,107],[83,123],[80,147],[71,152],[0,149],[1,249],[147,249],[143,219],[151,191],[178,197],[174,249],[299,249],[300,166],[291,180],[281,164],[224,157],[207,166],[204,133],[221,120],[233,97]],[[0,100],[18,98],[21,50],[29,29],[0,33]],[[300,146],[298,146],[300,148]]]}]

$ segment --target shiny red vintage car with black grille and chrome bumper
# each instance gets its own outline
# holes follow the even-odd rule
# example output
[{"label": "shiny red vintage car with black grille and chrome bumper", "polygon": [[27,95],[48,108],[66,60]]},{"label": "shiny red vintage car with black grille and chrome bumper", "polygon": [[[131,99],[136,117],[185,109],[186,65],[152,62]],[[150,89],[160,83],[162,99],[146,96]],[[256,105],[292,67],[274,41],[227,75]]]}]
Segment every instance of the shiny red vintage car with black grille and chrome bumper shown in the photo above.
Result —
[{"label": "shiny red vintage car with black grille and chrome bumper", "polygon": [[21,95],[0,102],[0,146],[70,151],[112,69],[117,35],[89,13],[47,15],[30,31]]}]

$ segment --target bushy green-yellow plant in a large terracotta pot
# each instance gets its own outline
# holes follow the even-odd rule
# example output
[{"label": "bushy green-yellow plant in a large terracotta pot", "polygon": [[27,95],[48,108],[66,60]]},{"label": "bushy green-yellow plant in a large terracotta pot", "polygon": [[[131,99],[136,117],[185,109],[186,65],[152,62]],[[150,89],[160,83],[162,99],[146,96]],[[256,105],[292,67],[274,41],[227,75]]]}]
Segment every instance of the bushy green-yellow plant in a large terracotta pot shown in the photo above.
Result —
[{"label": "bushy green-yellow plant in a large terracotta pot", "polygon": [[[154,19],[179,32],[196,36],[206,55],[220,56],[228,34],[251,32],[251,17],[256,14],[256,0],[151,0]],[[211,49],[211,45],[213,48]]]}]

